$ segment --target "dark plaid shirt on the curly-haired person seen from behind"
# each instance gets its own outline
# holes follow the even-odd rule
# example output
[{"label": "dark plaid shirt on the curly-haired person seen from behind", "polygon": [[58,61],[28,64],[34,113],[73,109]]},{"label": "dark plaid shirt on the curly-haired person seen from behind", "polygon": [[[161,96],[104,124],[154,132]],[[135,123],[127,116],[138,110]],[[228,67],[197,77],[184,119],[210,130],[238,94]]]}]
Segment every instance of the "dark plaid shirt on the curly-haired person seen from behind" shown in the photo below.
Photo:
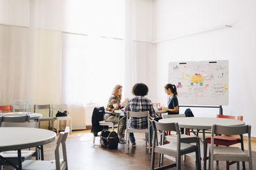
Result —
[{"label": "dark plaid shirt on the curly-haired person seen from behind", "polygon": [[[149,111],[150,116],[154,116],[155,114],[155,110],[150,99],[141,96],[135,96],[127,102],[124,115],[127,115],[127,111]],[[146,129],[148,127],[147,117],[129,118],[129,127],[134,129]]]}]

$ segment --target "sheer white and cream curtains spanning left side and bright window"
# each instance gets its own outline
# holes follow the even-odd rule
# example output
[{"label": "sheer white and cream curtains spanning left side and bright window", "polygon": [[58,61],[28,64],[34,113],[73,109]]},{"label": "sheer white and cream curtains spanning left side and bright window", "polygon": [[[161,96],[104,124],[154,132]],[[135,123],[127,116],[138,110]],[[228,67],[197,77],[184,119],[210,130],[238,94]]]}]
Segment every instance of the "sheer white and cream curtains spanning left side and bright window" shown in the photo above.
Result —
[{"label": "sheer white and cream curtains spanning left side and bright window", "polygon": [[83,119],[124,85],[124,1],[0,0],[0,14],[1,105],[66,103]]}]

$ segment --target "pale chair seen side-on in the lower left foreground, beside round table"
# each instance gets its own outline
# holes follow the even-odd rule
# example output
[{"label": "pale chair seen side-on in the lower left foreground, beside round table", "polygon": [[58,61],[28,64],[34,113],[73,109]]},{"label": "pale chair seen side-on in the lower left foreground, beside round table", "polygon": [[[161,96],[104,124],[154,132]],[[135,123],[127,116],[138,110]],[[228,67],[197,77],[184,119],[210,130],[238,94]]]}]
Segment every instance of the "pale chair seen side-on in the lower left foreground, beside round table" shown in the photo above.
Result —
[{"label": "pale chair seen side-on in the lower left foreground, beside round table", "polygon": [[[22,162],[22,169],[24,170],[66,169],[67,170],[68,162],[67,162],[66,140],[67,140],[69,131],[70,131],[70,128],[66,127],[65,132],[60,132],[60,136],[58,138],[57,145],[54,151],[55,160],[25,160],[24,162]],[[60,151],[59,151],[60,143],[62,145],[63,160],[60,159]]]}]

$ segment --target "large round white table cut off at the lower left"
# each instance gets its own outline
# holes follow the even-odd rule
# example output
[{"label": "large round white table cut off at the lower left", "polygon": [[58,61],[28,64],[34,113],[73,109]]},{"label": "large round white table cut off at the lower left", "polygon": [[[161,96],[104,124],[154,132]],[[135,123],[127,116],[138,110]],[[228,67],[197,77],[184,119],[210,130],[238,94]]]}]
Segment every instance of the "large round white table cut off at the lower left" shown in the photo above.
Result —
[{"label": "large round white table cut off at the lower left", "polygon": [[[45,129],[30,127],[0,127],[0,152],[8,150],[18,150],[19,167],[12,165],[16,169],[22,169],[21,149],[43,146],[56,139],[56,133]],[[42,160],[44,159],[44,150],[41,148]],[[1,160],[4,157],[0,156]]]}]

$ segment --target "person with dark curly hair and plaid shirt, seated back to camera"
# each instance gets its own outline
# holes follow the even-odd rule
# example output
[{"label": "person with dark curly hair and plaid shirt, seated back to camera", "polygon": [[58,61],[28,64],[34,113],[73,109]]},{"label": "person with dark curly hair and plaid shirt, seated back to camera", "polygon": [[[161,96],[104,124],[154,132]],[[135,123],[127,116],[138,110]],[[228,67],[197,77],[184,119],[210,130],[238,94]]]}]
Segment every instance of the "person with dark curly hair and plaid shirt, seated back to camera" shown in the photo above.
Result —
[{"label": "person with dark curly hair and plaid shirt, seated back to camera", "polygon": [[[132,87],[132,94],[134,95],[134,97],[127,102],[124,110],[124,115],[127,114],[127,111],[149,111],[150,116],[154,116],[155,111],[152,102],[150,101],[150,99],[144,97],[148,94],[147,85],[143,83],[136,83]],[[134,129],[146,129],[148,127],[147,117],[129,118],[129,127]],[[152,138],[153,129],[150,122],[150,146],[152,146]],[[130,141],[132,143],[132,146],[136,146],[133,133],[130,133]]]}]

